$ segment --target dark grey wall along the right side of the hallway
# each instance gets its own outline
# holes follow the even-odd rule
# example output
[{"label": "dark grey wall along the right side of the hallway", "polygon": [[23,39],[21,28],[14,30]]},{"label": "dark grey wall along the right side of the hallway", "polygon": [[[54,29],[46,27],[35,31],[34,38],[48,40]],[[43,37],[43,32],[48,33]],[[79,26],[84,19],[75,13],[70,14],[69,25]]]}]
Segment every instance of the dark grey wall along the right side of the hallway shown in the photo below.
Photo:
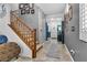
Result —
[{"label": "dark grey wall along the right side of the hallway", "polygon": [[[75,32],[72,32],[72,26],[75,26]],[[65,44],[69,51],[75,51],[75,54],[72,54],[75,62],[87,62],[87,43],[79,40],[78,3],[73,4],[73,19],[65,28]]]}]

